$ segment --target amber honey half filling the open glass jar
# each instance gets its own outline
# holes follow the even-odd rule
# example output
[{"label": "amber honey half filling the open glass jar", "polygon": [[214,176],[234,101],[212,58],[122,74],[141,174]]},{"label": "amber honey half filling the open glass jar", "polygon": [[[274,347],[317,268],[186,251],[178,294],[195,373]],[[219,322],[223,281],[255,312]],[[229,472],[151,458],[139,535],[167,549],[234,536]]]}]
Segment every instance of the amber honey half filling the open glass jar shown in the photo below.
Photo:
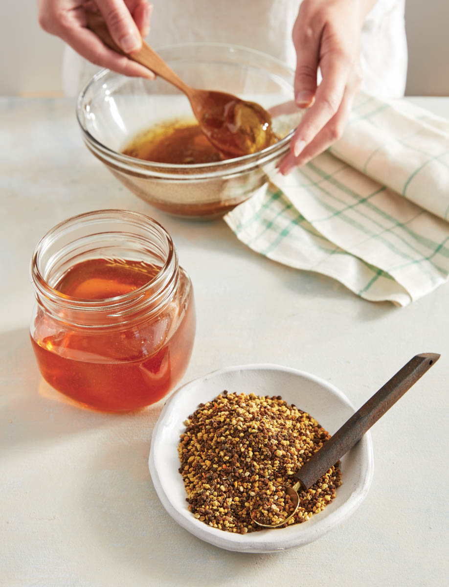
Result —
[{"label": "amber honey half filling the open glass jar", "polygon": [[190,279],[171,260],[86,259],[48,290],[54,302],[38,295],[31,339],[44,379],[104,411],[139,409],[173,389],[190,359],[195,312]]}]

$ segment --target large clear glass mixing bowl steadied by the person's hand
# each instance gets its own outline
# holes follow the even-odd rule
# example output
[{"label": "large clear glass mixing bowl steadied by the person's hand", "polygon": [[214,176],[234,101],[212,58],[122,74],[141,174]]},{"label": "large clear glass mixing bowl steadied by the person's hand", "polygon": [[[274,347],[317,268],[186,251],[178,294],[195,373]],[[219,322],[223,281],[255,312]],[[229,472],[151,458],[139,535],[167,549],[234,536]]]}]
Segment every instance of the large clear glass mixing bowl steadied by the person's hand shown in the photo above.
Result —
[{"label": "large clear glass mixing bowl steadied by the person's hand", "polygon": [[[264,53],[219,43],[173,45],[158,53],[193,87],[233,93],[265,109],[293,99],[293,70]],[[102,70],[77,101],[83,139],[94,156],[134,194],[184,217],[224,214],[247,200],[288,151],[296,123],[295,117],[275,117],[278,143],[217,163],[154,163],[120,152],[154,124],[185,118],[193,119],[187,97],[160,77],[151,81]]]}]

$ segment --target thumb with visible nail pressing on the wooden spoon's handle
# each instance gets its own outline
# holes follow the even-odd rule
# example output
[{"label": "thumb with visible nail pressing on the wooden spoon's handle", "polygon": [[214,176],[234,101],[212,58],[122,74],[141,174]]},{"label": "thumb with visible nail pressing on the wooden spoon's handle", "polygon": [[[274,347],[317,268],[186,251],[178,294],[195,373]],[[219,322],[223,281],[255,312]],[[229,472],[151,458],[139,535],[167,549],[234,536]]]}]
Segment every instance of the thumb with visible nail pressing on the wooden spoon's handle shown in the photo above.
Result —
[{"label": "thumb with visible nail pressing on the wooden spoon's handle", "polygon": [[107,28],[124,53],[133,53],[142,46],[139,29],[123,0],[96,0]]}]

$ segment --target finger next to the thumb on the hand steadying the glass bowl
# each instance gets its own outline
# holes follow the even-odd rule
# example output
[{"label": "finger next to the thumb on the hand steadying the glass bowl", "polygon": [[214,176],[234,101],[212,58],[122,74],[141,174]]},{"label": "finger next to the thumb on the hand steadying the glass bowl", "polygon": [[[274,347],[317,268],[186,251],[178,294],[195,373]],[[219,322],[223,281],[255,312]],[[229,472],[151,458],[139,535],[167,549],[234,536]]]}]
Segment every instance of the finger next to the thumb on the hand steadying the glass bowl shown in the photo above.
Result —
[{"label": "finger next to the thumb on the hand steadying the glass bowl", "polygon": [[316,90],[315,102],[293,135],[291,150],[295,157],[338,112],[350,73],[350,61],[342,52],[330,52],[320,60],[320,69],[323,80]]}]

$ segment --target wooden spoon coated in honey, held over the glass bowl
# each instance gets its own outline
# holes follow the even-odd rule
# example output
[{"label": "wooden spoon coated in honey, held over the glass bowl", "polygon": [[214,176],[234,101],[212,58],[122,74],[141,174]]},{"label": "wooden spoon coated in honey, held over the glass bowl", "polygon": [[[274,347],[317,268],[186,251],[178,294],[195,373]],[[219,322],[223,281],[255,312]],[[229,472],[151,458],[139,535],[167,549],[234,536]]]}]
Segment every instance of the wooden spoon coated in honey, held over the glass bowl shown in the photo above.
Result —
[{"label": "wooden spoon coated in honey, held over the glass bowl", "polygon": [[271,116],[259,104],[241,100],[232,94],[188,86],[144,41],[139,51],[124,53],[113,41],[100,14],[87,11],[87,26],[110,49],[151,69],[184,92],[201,130],[222,153],[241,157],[265,149],[276,141],[271,129]]}]

